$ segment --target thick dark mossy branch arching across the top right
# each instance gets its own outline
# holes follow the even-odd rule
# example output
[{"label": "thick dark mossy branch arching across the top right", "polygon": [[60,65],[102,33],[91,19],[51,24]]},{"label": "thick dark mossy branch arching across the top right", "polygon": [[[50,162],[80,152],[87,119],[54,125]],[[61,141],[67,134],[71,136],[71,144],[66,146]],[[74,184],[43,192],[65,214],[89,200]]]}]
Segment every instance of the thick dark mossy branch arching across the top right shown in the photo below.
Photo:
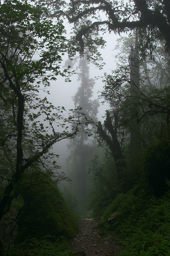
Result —
[{"label": "thick dark mossy branch arching across the top right", "polygon": [[[84,15],[91,14],[94,11],[97,10],[103,10],[108,14],[109,19],[104,20],[102,22],[94,22],[92,25],[82,29],[79,31],[79,33],[76,36],[76,39],[80,42],[80,50],[83,52],[84,48],[84,43],[82,36],[85,35],[88,31],[91,29],[95,29],[96,26],[102,25],[102,24],[107,24],[108,30],[110,31],[124,31],[126,29],[137,29],[137,28],[144,28],[147,27],[148,25],[151,25],[152,28],[158,28],[162,37],[166,41],[167,49],[170,52],[170,23],[168,22],[169,20],[169,15],[170,15],[170,4],[168,0],[164,0],[163,4],[166,10],[167,14],[167,19],[166,16],[162,14],[161,11],[158,10],[151,10],[149,9],[146,0],[134,0],[135,4],[135,9],[132,14],[139,14],[139,19],[133,21],[127,21],[127,19],[123,19],[122,22],[119,21],[118,17],[115,15],[116,12],[121,12],[121,10],[116,10],[118,6],[113,7],[109,1],[106,0],[78,0],[78,1],[71,1],[72,3],[72,9],[70,10],[69,14],[64,13],[63,11],[60,11],[61,15],[64,15],[67,17],[68,21],[70,23],[78,21],[80,18],[83,18]],[[80,4],[88,5],[90,6],[91,4],[95,4],[98,6],[95,7],[89,7],[86,8],[85,10],[81,11],[74,16],[75,13],[75,7],[76,5],[79,7]],[[123,11],[122,11],[123,12]],[[119,17],[121,18],[121,14],[119,14]]]}]

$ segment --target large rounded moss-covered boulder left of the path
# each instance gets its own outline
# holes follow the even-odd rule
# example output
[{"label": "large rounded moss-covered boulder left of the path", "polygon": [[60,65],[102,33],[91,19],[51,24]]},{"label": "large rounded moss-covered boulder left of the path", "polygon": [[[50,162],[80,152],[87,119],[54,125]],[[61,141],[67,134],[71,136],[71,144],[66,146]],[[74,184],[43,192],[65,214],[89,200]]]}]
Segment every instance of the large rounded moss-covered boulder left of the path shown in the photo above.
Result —
[{"label": "large rounded moss-covered boulder left of the path", "polygon": [[18,215],[17,243],[47,235],[74,237],[77,232],[77,219],[56,184],[41,183],[24,191],[24,206]]}]

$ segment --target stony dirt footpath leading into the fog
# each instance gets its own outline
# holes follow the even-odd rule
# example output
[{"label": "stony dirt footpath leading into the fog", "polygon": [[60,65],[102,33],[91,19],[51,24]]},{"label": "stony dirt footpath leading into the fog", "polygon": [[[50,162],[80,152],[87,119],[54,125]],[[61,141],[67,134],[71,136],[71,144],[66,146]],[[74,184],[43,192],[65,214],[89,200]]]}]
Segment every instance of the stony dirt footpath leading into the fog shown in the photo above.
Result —
[{"label": "stony dirt footpath leading into the fog", "polygon": [[72,240],[75,256],[118,256],[115,234],[100,236],[95,219],[79,219],[79,234]]}]

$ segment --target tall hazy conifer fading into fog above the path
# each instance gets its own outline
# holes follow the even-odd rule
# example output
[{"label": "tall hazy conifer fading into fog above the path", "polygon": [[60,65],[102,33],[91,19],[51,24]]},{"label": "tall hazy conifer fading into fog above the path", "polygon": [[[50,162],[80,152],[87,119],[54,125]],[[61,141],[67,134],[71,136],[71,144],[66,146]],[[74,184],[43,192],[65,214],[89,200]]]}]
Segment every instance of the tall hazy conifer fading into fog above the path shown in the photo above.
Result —
[{"label": "tall hazy conifer fading into fog above the path", "polygon": [[[94,79],[90,78],[90,68],[88,64],[89,62],[86,56],[80,56],[79,65],[76,69],[78,71],[78,81],[80,81],[80,86],[78,87],[77,93],[72,98],[75,107],[82,108],[82,112],[90,116],[95,122],[99,103],[97,100],[91,99]],[[75,136],[74,141],[71,141],[68,146],[71,150],[74,163],[71,170],[71,178],[74,184],[74,191],[76,195],[78,195],[79,204],[81,205],[83,205],[87,197],[86,165],[87,159],[91,154],[90,146],[86,143],[87,141],[87,135],[80,129]]]}]

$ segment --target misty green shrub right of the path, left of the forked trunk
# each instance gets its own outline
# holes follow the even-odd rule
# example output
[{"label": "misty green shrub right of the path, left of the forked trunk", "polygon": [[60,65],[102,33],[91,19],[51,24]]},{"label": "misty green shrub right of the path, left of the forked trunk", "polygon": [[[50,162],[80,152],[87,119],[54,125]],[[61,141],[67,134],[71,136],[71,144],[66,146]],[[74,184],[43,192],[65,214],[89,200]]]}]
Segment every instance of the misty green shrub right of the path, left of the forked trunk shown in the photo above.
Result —
[{"label": "misty green shrub right of the path, left of the forked trunk", "polygon": [[109,150],[106,149],[102,158],[98,155],[94,157],[89,172],[93,173],[94,176],[92,188],[90,189],[89,206],[93,209],[94,217],[99,217],[103,214],[110,201],[114,199],[118,188],[114,159]]}]

